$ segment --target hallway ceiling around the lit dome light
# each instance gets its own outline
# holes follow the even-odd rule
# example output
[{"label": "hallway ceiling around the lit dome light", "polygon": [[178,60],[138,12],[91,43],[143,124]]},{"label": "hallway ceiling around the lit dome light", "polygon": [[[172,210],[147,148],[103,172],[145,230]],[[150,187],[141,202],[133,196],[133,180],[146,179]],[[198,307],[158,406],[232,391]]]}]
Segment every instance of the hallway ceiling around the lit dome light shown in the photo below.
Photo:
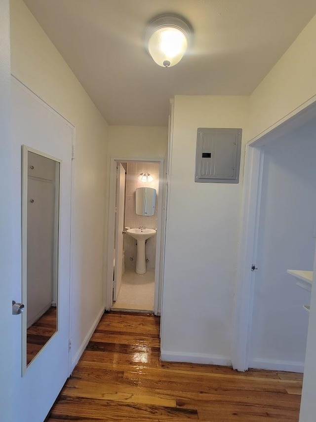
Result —
[{"label": "hallway ceiling around the lit dome light", "polygon": [[[316,13],[315,0],[25,0],[109,124],[166,126],[173,95],[249,95]],[[194,29],[175,67],[154,63],[146,25]]]}]

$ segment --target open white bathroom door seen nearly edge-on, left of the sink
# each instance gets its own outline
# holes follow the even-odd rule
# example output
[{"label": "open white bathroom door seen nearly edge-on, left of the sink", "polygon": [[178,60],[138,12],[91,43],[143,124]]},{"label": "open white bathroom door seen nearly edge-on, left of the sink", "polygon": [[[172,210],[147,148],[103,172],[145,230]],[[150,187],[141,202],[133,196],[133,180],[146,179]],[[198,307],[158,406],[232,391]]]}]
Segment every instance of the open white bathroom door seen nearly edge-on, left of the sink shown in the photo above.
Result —
[{"label": "open white bathroom door seen nearly edge-on, left of the sink", "polygon": [[118,291],[122,281],[122,258],[123,258],[123,230],[124,230],[124,194],[125,194],[125,170],[119,163],[117,167],[117,207],[115,220],[115,269],[113,299],[118,298]]}]

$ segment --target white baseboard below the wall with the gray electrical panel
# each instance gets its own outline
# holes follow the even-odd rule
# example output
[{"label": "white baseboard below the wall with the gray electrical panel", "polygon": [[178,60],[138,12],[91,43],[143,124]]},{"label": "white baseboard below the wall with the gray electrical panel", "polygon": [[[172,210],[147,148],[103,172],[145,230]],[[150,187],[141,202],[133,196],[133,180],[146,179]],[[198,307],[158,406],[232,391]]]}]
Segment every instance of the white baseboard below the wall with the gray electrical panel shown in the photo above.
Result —
[{"label": "white baseboard below the wall with the gray electrical panel", "polygon": [[160,357],[162,361],[168,362],[188,362],[204,363],[208,365],[232,366],[231,358],[228,356],[199,353],[168,352],[161,349]]}]

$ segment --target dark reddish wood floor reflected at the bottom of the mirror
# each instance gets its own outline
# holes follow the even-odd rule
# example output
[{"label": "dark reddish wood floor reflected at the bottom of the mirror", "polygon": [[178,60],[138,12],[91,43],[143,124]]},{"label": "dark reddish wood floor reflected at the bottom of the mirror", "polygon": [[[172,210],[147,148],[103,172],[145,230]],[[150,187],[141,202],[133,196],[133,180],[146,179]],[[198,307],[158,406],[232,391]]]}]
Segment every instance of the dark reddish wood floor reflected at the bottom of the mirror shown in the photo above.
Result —
[{"label": "dark reddish wood floor reflected at the bottom of the mirror", "polygon": [[28,365],[57,330],[57,308],[50,307],[26,334],[26,364]]}]

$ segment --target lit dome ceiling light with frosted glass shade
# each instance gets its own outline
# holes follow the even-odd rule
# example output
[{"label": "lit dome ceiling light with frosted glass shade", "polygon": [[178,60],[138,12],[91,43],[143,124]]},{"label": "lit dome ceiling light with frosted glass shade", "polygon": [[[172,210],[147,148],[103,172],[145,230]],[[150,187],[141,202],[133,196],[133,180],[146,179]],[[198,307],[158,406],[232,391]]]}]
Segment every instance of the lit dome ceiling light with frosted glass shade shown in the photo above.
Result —
[{"label": "lit dome ceiling light with frosted glass shade", "polygon": [[155,18],[145,32],[147,51],[159,66],[165,68],[180,62],[191,38],[189,22],[176,15]]}]

